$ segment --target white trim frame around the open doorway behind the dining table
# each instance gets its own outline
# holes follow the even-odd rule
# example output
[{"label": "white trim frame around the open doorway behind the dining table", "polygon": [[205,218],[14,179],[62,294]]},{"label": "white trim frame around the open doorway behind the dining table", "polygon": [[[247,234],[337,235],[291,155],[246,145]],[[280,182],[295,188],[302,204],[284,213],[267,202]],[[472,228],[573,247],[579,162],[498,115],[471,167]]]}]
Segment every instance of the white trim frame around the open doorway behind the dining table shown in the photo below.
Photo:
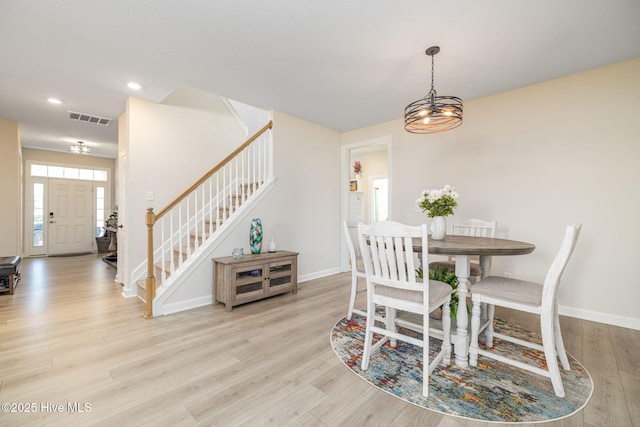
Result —
[{"label": "white trim frame around the open doorway behind the dining table", "polygon": [[367,139],[360,142],[345,144],[342,146],[341,166],[340,166],[340,271],[349,270],[349,251],[347,249],[346,236],[342,223],[349,218],[349,179],[351,174],[350,153],[355,148],[363,148],[371,145],[387,144],[387,178],[389,182],[389,219],[393,218],[392,214],[392,193],[393,193],[393,161],[391,157],[393,138],[391,135],[379,138]]}]

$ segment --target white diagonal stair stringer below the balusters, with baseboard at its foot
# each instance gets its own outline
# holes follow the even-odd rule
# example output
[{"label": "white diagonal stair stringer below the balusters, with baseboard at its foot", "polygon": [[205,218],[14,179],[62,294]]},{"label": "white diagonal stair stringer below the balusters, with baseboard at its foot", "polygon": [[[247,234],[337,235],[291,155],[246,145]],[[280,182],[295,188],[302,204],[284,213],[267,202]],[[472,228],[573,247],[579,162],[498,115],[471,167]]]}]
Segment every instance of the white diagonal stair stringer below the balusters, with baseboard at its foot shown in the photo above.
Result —
[{"label": "white diagonal stair stringer below the balusters, with baseboard at its foot", "polygon": [[[153,316],[162,316],[165,314],[177,313],[204,305],[213,304],[213,286],[212,292],[208,296],[198,296],[192,299],[184,299],[181,301],[171,301],[169,299],[183,287],[189,285],[189,279],[199,269],[203,263],[210,263],[214,251],[222,244],[225,239],[234,231],[238,225],[242,223],[251,210],[259,204],[264,197],[275,187],[276,178],[272,178],[254,193],[250,200],[243,203],[234,214],[225,221],[218,230],[205,241],[195,252],[191,254],[174,273],[171,274],[156,290],[156,297],[153,300]],[[209,278],[212,281],[212,278]],[[212,282],[211,282],[212,283]],[[140,297],[143,301],[144,298]]]}]

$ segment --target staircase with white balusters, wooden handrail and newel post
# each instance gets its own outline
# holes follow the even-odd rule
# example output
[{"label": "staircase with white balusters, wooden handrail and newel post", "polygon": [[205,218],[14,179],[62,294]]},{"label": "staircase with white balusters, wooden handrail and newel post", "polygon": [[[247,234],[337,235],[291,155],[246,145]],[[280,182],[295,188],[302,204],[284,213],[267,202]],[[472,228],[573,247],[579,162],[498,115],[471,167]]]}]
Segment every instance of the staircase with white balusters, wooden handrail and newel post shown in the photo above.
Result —
[{"label": "staircase with white balusters, wooden handrail and newel post", "polygon": [[272,188],[272,126],[265,125],[157,214],[147,209],[147,260],[132,274],[137,294],[146,303],[143,317],[153,317],[153,304],[161,307],[176,285],[185,285],[188,269],[210,262],[206,255],[236,219]]}]

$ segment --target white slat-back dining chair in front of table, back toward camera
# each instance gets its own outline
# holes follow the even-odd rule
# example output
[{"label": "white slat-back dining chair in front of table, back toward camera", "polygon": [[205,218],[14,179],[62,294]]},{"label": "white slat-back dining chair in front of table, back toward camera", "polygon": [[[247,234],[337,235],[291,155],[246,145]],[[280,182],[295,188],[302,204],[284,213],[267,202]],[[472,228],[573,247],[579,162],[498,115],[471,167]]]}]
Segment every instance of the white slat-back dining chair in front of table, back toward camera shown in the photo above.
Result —
[{"label": "white slat-back dining chair in front of table, back toward camera", "polygon": [[[414,256],[413,239],[420,239],[422,256],[428,257],[427,225],[408,226],[392,221],[372,225],[359,224],[358,237],[367,279],[367,325],[362,355],[362,369],[367,370],[371,354],[396,340],[422,347],[422,394],[429,395],[429,377],[442,362],[451,360],[451,302],[452,288],[444,282],[417,278],[417,255]],[[377,306],[385,307],[385,321],[375,323]],[[442,344],[430,362],[429,313],[443,307]],[[422,318],[422,338],[408,335],[396,325],[396,311],[418,314]],[[381,335],[374,344],[373,334]]]}]

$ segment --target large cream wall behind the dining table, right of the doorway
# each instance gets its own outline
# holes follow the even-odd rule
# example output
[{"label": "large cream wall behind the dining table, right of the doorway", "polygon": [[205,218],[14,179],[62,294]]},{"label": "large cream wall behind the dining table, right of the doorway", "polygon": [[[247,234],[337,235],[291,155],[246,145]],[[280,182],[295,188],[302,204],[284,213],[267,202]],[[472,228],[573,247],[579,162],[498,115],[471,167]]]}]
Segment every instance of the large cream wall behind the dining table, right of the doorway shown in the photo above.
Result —
[{"label": "large cream wall behind the dining table, right of the doorway", "polygon": [[464,124],[413,135],[402,120],[342,135],[393,137],[393,219],[426,220],[420,191],[460,193],[457,215],[498,221],[534,253],[494,257],[493,273],[542,281],[564,228],[582,223],[559,291],[561,313],[640,329],[640,58],[466,101]]}]

